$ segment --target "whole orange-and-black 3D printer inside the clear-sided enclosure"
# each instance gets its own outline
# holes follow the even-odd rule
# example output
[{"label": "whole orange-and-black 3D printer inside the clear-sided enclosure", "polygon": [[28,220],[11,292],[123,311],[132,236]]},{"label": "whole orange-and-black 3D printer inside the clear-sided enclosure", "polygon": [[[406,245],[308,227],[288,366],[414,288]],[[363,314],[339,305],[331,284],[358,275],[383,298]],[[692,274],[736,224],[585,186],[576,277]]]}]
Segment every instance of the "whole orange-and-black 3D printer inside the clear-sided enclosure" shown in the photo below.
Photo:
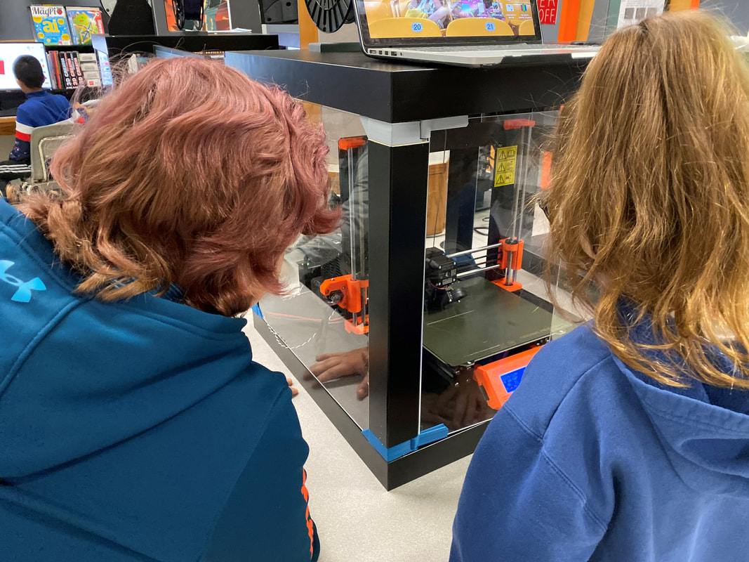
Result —
[{"label": "whole orange-and-black 3D printer inside the clear-sided enclosure", "polygon": [[[503,405],[551,337],[553,307],[539,281],[545,220],[533,196],[544,165],[537,139],[551,132],[555,118],[554,112],[482,118],[432,137],[430,150],[444,173],[434,184],[428,223],[444,225],[428,224],[425,244],[422,391],[473,385],[488,408],[472,423]],[[339,194],[331,204],[342,205],[344,222],[328,244],[337,250],[330,259],[318,251],[297,263],[303,286],[330,306],[346,333],[364,337],[372,306],[367,160],[366,136],[339,139]],[[314,242],[318,250],[324,245]],[[339,342],[339,351],[347,347]],[[425,417],[424,426],[428,419],[439,416]],[[461,429],[461,423],[447,425]]]}]

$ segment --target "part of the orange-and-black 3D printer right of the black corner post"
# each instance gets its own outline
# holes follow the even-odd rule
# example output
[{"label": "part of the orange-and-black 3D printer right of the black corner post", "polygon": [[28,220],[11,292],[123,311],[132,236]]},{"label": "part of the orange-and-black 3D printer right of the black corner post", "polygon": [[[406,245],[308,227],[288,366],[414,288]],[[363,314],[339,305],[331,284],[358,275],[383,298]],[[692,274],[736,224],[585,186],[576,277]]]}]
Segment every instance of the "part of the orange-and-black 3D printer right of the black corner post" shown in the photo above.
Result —
[{"label": "part of the orange-and-black 3D printer right of the black corner post", "polygon": [[[444,252],[427,250],[426,277],[454,273],[426,291],[431,306],[424,319],[424,376],[455,381],[468,370],[489,416],[551,337],[554,309],[539,280],[547,224],[533,196],[542,187],[542,139],[554,118],[485,118],[432,138],[434,148],[449,154],[449,178]],[[532,252],[524,268],[527,243]]]}]

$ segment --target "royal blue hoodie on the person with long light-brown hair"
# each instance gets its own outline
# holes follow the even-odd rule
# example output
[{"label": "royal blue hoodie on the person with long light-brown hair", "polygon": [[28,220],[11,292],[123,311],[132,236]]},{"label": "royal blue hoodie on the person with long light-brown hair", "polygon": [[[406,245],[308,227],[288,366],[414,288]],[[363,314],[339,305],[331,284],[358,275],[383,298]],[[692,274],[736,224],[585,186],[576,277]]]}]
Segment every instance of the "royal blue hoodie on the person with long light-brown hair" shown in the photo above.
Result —
[{"label": "royal blue hoodie on the person with long light-brown hair", "polygon": [[748,413],[749,393],[662,387],[579,327],[489,424],[450,561],[748,561]]}]

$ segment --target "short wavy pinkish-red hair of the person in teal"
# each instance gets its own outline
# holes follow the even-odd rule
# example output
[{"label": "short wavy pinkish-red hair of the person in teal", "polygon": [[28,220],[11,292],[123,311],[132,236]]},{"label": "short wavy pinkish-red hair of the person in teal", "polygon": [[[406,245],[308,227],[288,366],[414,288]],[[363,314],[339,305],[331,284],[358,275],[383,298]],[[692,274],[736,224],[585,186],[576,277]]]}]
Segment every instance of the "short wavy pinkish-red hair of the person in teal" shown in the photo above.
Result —
[{"label": "short wavy pinkish-red hair of the person in teal", "polygon": [[165,290],[236,315],[279,293],[300,232],[330,232],[324,131],[300,103],[200,58],[148,64],[55,154],[61,195],[19,208],[101,300]]}]

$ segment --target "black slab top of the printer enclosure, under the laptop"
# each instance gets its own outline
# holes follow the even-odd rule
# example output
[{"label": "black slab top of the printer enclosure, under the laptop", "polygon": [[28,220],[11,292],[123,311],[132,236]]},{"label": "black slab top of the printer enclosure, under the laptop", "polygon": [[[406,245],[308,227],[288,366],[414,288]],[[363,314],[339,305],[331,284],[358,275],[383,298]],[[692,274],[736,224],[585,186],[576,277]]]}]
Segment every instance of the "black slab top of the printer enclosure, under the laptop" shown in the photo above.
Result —
[{"label": "black slab top of the printer enclosure, under the laptop", "polygon": [[587,61],[470,68],[380,61],[363,52],[228,51],[225,62],[292,96],[387,123],[559,106]]}]

